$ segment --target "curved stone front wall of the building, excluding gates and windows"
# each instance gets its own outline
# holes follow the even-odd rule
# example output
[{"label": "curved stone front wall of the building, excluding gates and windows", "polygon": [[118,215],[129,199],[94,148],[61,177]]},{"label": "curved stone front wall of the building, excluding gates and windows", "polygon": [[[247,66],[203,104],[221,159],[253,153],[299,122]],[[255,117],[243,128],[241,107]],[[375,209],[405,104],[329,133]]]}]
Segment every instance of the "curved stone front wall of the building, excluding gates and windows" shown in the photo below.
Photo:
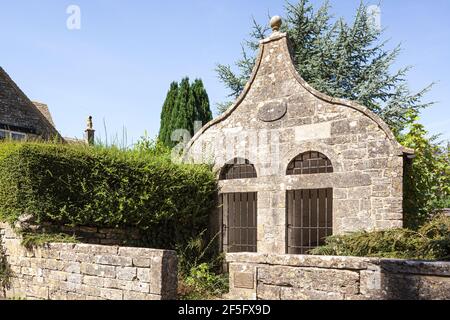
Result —
[{"label": "curved stone front wall of the building, excluding gates and windows", "polygon": [[[308,152],[329,159],[333,172],[287,175],[291,161]],[[309,86],[295,70],[287,35],[275,31],[261,41],[244,92],[189,142],[185,160],[218,172],[236,158],[253,165],[257,178],[221,180],[221,193],[257,192],[257,251],[283,254],[292,236],[289,190],[332,188],[333,234],[401,227],[407,154],[413,151],[367,108]],[[215,215],[227,250],[224,210]]]}]

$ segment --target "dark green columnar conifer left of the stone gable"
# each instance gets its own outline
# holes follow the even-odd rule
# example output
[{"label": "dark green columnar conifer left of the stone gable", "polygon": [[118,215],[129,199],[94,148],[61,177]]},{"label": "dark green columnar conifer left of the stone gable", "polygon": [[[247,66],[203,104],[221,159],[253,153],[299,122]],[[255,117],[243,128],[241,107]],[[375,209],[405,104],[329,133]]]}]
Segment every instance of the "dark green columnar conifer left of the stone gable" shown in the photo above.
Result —
[{"label": "dark green columnar conifer left of the stone gable", "polygon": [[174,147],[175,130],[187,130],[192,137],[196,121],[206,124],[211,120],[209,98],[202,80],[196,79],[192,84],[189,78],[182,79],[180,84],[173,82],[161,112],[159,140],[168,147]]}]

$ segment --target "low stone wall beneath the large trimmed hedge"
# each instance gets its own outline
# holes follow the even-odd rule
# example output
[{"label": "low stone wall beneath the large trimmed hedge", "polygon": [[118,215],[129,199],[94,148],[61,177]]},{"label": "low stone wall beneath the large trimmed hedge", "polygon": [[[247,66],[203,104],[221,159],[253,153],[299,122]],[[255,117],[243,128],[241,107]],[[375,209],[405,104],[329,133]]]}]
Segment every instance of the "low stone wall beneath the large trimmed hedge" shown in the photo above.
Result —
[{"label": "low stone wall beneath the large trimmed hedge", "polygon": [[64,243],[26,249],[7,224],[0,224],[0,240],[13,272],[11,286],[3,293],[7,298],[176,298],[177,257],[173,251]]}]

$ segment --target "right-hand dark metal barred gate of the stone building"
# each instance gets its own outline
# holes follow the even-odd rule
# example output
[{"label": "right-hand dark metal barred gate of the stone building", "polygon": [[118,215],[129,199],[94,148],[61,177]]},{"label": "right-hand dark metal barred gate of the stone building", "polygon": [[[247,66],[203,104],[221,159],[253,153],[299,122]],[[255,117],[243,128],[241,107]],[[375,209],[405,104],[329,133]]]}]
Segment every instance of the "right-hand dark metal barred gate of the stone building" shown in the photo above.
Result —
[{"label": "right-hand dark metal barred gate of the stone building", "polygon": [[308,254],[333,234],[333,189],[287,191],[286,208],[288,254]]}]

